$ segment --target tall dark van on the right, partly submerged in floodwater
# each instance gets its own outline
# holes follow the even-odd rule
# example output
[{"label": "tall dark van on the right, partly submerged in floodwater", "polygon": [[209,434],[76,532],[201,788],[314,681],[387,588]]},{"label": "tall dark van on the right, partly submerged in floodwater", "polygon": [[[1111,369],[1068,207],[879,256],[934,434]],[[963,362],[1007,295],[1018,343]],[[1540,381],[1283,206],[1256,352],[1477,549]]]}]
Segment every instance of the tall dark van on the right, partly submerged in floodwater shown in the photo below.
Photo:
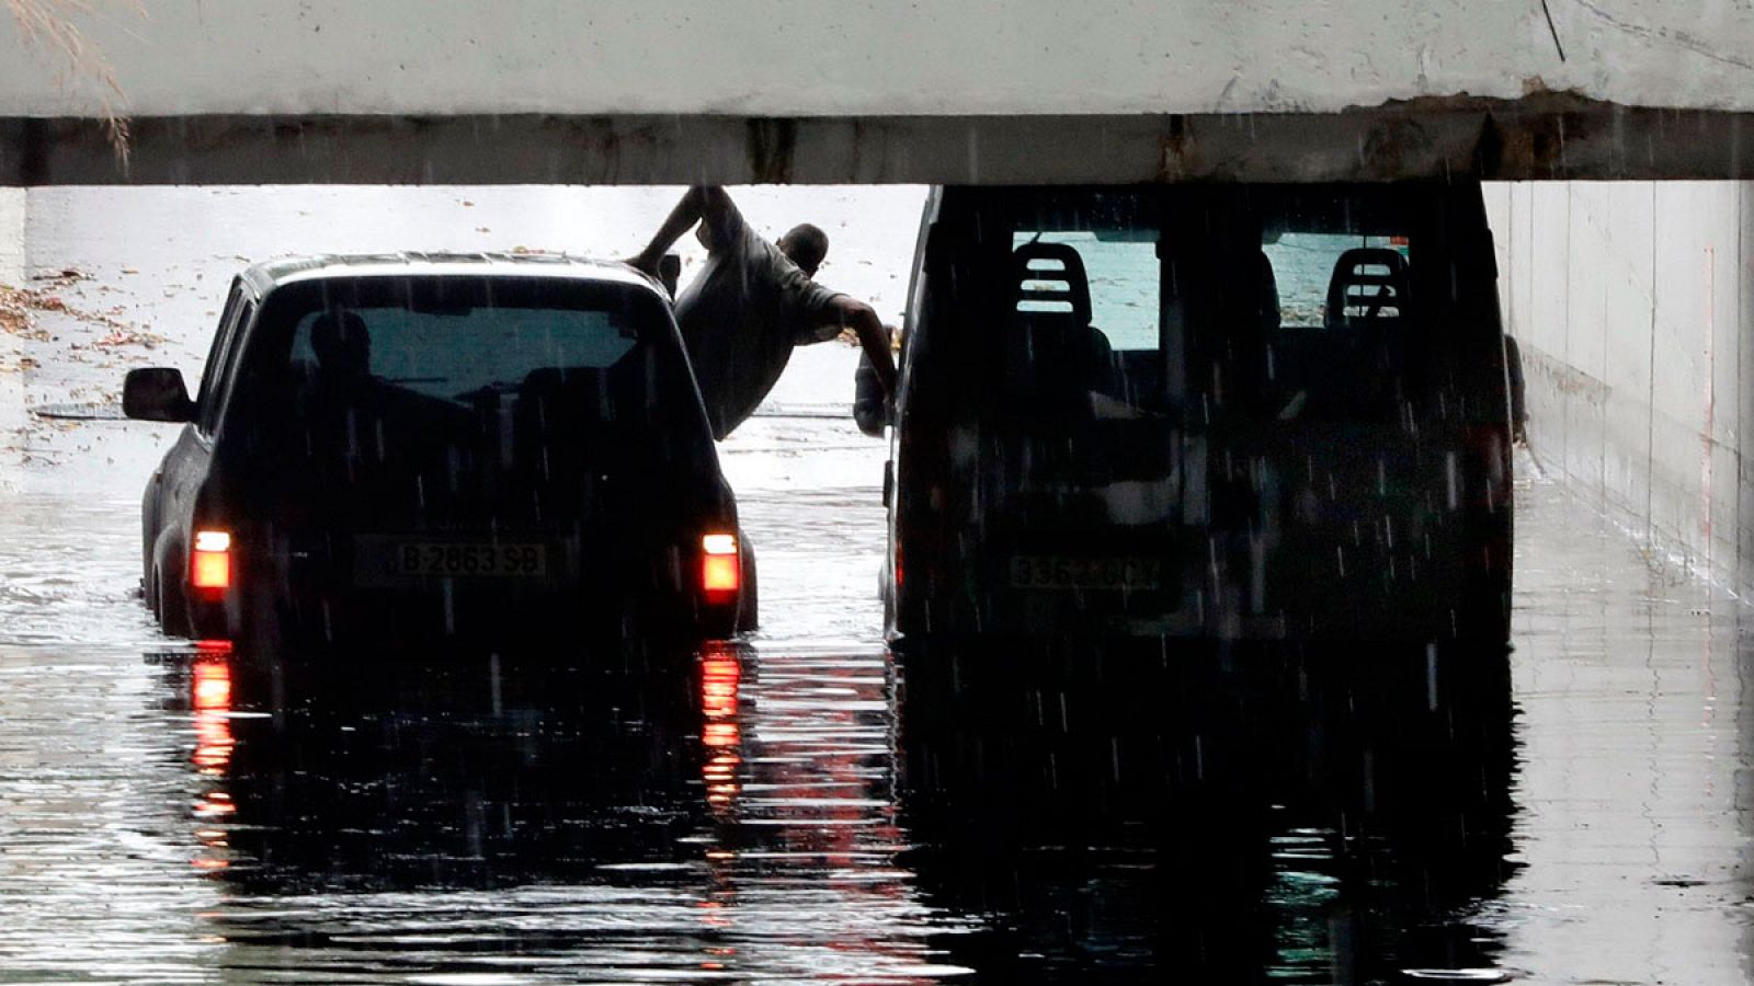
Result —
[{"label": "tall dark van on the right, partly submerged in floodwater", "polygon": [[1477,184],[944,188],[903,349],[902,639],[1507,639]]}]

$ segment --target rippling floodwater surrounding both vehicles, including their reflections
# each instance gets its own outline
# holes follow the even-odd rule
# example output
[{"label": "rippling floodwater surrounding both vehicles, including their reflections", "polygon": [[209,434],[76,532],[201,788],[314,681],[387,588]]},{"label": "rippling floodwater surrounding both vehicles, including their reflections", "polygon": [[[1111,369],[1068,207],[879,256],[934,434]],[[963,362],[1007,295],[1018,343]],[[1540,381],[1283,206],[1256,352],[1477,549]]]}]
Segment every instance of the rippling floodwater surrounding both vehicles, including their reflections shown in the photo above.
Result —
[{"label": "rippling floodwater surrounding both vehicles, including their reflections", "polygon": [[1563,489],[1508,660],[896,658],[875,491],[747,447],[766,628],[642,682],[275,702],[147,628],[132,498],[0,502],[0,981],[1747,981],[1743,611]]}]

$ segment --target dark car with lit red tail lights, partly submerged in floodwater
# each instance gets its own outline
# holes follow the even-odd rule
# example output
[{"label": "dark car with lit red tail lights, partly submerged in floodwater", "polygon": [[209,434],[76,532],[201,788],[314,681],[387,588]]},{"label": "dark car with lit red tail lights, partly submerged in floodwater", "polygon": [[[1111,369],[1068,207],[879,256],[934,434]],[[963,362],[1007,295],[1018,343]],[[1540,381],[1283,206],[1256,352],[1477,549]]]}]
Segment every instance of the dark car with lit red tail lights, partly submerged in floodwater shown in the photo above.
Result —
[{"label": "dark car with lit red tail lights, partly submerged in floodwater", "polygon": [[142,504],[168,633],[328,647],[714,639],[754,565],[660,286],[551,256],[332,256],[232,284]]}]

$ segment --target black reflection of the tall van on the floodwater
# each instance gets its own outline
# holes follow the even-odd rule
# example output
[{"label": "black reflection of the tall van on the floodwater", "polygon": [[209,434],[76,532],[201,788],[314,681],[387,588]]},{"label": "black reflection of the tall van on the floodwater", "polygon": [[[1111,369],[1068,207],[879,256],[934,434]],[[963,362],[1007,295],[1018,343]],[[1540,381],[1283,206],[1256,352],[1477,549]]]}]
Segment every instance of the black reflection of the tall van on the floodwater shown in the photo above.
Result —
[{"label": "black reflection of the tall van on the floodwater", "polygon": [[[1003,982],[1498,979],[1496,654],[902,654],[902,819],[935,940]],[[1466,970],[1466,972],[1465,972]]]}]

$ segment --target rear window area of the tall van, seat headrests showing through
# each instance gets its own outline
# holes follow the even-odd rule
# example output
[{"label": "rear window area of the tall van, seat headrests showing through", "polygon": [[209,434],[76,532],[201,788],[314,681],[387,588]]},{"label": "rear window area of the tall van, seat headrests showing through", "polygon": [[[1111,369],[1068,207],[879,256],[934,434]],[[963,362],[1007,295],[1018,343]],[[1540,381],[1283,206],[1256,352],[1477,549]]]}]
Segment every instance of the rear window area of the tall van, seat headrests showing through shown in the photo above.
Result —
[{"label": "rear window area of the tall van, seat headrests showing through", "polygon": [[1444,312],[1468,226],[1445,202],[1398,186],[982,189],[938,219],[958,298],[938,305],[989,312],[970,361],[998,414],[1400,421],[1444,404],[1431,382],[1459,344]]}]

